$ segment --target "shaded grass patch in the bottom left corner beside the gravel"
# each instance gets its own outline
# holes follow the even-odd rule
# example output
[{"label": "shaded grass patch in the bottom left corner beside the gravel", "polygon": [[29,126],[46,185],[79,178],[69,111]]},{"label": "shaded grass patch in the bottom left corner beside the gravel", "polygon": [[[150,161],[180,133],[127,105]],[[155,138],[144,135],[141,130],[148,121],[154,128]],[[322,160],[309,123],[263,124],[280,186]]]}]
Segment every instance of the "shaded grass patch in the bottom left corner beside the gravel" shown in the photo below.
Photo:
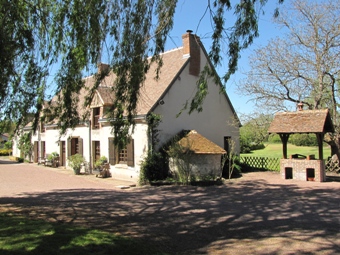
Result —
[{"label": "shaded grass patch in the bottom left corner beside the gravel", "polygon": [[0,213],[2,255],[165,254],[141,241],[98,229]]}]

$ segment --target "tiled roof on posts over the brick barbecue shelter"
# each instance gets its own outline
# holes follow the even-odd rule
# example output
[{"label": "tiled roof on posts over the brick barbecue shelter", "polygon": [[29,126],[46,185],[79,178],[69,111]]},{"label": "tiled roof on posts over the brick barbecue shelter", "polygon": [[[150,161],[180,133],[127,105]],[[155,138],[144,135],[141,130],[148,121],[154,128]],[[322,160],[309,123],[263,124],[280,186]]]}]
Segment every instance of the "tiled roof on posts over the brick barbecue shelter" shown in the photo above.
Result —
[{"label": "tiled roof on posts over the brick barbecue shelter", "polygon": [[276,113],[268,133],[334,132],[328,109]]}]

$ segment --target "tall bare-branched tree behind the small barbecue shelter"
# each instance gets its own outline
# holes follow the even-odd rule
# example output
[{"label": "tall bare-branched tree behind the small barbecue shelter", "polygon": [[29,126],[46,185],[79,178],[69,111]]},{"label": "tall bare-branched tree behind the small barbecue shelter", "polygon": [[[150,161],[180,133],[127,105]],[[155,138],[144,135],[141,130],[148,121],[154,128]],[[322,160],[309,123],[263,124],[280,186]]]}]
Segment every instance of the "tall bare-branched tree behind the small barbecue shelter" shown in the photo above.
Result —
[{"label": "tall bare-branched tree behind the small barbecue shelter", "polygon": [[255,52],[240,84],[267,110],[291,110],[299,102],[308,109],[329,108],[336,132],[326,140],[338,156],[339,16],[339,0],[293,2],[275,20],[287,33]]}]

